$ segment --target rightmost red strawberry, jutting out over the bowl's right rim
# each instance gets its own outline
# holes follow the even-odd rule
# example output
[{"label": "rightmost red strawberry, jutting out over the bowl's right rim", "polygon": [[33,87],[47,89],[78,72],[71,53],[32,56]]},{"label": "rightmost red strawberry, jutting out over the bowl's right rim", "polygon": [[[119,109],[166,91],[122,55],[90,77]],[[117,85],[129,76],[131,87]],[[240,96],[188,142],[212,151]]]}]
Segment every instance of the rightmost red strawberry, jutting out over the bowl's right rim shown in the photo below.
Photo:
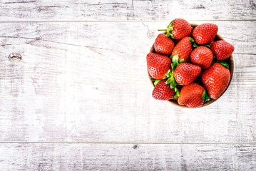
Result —
[{"label": "rightmost red strawberry, jutting out over the bowl's right rim", "polygon": [[232,46],[230,43],[227,43],[227,41],[215,41],[210,47],[210,50],[213,51],[214,55],[219,61],[223,61],[229,58],[234,49],[234,46]]}]

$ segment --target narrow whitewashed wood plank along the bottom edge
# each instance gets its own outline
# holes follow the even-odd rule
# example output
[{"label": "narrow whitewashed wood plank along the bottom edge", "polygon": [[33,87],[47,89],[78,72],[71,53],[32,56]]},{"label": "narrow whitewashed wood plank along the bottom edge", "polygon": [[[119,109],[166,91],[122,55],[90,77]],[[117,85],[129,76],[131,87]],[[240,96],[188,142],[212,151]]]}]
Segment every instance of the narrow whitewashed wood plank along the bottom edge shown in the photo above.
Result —
[{"label": "narrow whitewashed wood plank along the bottom edge", "polygon": [[0,144],[1,170],[256,170],[256,145]]}]

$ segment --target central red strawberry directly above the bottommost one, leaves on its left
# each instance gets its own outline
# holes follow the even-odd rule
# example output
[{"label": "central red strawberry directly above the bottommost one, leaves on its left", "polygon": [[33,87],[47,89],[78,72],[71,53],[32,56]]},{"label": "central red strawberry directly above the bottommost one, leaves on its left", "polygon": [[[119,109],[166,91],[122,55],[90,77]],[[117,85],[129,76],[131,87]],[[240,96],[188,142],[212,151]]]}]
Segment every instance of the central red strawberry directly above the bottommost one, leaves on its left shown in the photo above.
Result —
[{"label": "central red strawberry directly above the bottommost one, leaves on its left", "polygon": [[188,85],[195,81],[201,72],[200,66],[191,63],[180,63],[173,73],[175,81],[182,85]]}]

